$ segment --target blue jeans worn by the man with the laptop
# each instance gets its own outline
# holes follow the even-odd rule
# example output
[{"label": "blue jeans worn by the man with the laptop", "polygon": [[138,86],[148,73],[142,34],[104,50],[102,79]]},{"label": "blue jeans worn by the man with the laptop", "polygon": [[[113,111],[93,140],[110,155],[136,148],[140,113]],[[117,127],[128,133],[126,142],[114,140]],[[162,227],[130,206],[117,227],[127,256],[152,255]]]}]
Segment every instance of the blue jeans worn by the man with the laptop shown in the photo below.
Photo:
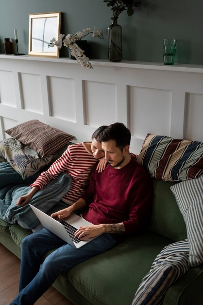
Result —
[{"label": "blue jeans worn by the man with the laptop", "polygon": [[[60,273],[113,248],[116,244],[116,239],[108,233],[78,249],[47,229],[40,229],[26,236],[21,247],[19,294],[11,305],[34,304]],[[42,263],[44,253],[52,249],[55,250]]]}]

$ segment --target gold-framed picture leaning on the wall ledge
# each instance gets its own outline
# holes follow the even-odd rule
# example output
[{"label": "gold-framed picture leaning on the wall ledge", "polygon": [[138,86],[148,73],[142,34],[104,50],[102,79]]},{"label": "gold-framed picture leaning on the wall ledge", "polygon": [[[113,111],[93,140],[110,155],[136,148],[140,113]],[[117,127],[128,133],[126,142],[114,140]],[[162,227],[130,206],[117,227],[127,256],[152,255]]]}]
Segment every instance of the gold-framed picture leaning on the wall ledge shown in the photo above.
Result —
[{"label": "gold-framed picture leaning on the wall ledge", "polygon": [[59,57],[59,49],[49,48],[50,40],[61,30],[61,12],[30,14],[29,50],[31,56]]}]

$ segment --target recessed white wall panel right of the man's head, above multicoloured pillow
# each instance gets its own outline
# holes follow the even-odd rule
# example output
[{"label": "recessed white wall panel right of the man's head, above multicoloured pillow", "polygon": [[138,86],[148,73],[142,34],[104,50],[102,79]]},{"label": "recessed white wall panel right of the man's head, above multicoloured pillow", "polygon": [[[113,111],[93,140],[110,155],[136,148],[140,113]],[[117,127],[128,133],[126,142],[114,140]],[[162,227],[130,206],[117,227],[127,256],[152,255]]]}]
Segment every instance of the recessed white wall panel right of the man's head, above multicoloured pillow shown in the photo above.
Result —
[{"label": "recessed white wall panel right of the man's head, above multicoloured pillow", "polygon": [[147,133],[161,130],[170,135],[172,93],[167,90],[130,86],[129,127],[133,136],[144,138]]}]

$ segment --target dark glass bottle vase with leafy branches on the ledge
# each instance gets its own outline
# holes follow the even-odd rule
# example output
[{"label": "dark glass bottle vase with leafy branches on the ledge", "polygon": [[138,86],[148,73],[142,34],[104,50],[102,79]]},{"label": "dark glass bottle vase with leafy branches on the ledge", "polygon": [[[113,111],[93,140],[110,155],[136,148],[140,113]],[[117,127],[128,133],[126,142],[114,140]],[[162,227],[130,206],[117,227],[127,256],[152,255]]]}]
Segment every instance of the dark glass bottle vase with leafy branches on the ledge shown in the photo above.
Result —
[{"label": "dark glass bottle vase with leafy branches on the ledge", "polygon": [[122,60],[122,28],[118,24],[118,16],[127,10],[128,16],[134,14],[133,7],[140,5],[141,1],[132,0],[103,0],[111,7],[114,17],[108,27],[108,58],[110,61]]}]

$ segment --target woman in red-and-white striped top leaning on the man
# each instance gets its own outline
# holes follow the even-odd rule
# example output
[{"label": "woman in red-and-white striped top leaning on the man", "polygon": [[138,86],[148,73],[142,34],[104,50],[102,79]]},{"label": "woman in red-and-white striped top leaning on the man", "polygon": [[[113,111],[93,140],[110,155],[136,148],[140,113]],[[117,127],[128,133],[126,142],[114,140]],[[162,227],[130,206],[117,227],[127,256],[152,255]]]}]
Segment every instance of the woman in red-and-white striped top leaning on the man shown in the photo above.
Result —
[{"label": "woman in red-and-white striped top leaning on the man", "polygon": [[31,191],[27,195],[18,198],[17,205],[26,205],[34,193],[42,190],[61,172],[68,172],[72,177],[70,189],[62,198],[62,201],[69,205],[76,202],[84,193],[88,176],[98,160],[100,160],[97,165],[98,172],[102,172],[105,169],[107,162],[104,159],[104,151],[101,149],[101,142],[98,141],[98,136],[106,127],[101,126],[92,134],[92,142],[69,145],[62,156],[34,181],[30,186]]}]

